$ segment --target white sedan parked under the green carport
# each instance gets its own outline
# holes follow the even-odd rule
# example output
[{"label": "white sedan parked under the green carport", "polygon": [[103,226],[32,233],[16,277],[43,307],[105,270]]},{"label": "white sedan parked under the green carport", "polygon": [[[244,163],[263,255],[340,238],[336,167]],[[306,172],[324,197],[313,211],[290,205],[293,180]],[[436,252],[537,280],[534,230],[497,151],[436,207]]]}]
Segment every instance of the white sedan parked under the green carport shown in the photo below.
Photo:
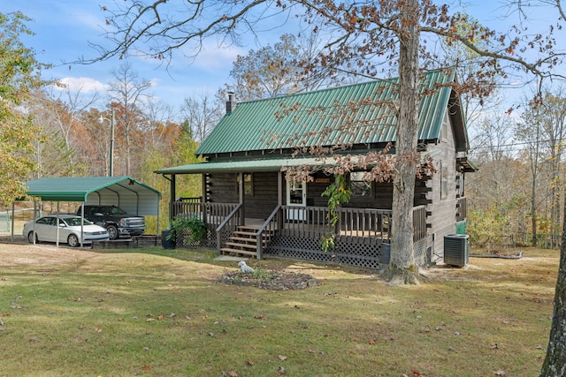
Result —
[{"label": "white sedan parked under the green carport", "polygon": [[[46,215],[38,218],[34,222],[26,222],[22,235],[27,237],[30,244],[41,241],[57,242],[57,215]],[[84,220],[82,229],[84,231],[83,244],[91,244],[92,241],[107,241],[108,230],[98,226],[88,220]],[[69,246],[80,245],[80,216],[59,215],[59,243]]]}]

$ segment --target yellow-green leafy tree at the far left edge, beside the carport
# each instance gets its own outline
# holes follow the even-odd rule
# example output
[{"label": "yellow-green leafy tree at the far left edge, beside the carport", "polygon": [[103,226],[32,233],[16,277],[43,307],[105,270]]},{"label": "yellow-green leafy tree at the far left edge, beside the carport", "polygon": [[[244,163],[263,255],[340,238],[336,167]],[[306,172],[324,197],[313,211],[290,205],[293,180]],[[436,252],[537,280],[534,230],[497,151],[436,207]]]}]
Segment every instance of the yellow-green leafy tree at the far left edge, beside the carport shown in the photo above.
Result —
[{"label": "yellow-green leafy tree at the far left edge, beside the carport", "polygon": [[0,203],[25,195],[25,183],[36,169],[34,144],[39,141],[33,118],[21,112],[35,88],[47,83],[40,77],[49,65],[38,62],[33,49],[20,41],[33,35],[22,13],[0,13]]}]

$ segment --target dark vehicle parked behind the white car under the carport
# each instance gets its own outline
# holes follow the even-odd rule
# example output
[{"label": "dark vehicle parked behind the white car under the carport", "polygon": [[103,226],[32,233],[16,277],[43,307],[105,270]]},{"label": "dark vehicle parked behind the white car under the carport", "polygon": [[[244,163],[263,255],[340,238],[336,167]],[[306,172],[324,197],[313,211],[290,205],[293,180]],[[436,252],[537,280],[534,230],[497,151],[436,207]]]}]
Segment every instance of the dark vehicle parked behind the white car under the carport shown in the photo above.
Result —
[{"label": "dark vehicle parked behind the white car under the carport", "polygon": [[[77,215],[80,215],[80,207]],[[85,218],[106,228],[110,239],[140,236],[145,231],[143,216],[127,215],[116,206],[85,206]]]}]

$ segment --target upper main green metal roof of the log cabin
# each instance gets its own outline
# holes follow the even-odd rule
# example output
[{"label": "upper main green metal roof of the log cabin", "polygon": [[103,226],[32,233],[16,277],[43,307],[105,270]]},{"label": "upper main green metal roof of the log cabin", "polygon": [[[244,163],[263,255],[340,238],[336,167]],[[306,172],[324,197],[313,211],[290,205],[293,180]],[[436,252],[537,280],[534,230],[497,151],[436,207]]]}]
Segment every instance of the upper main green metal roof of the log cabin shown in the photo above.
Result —
[{"label": "upper main green metal roof of the log cabin", "polygon": [[[455,72],[434,71],[424,76],[419,104],[419,140],[438,139]],[[196,155],[333,145],[386,143],[395,140],[398,79],[374,80],[346,87],[241,102],[226,114]],[[344,124],[356,124],[348,131]],[[462,139],[462,138],[461,138]],[[467,137],[463,138],[467,142]]]}]

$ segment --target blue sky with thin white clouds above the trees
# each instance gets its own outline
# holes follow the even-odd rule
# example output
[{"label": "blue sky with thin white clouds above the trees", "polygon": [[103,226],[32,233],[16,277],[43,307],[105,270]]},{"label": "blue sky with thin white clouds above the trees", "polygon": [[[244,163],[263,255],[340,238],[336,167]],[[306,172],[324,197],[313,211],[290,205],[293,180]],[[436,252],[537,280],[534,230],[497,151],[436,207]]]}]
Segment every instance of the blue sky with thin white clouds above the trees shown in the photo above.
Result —
[{"label": "blue sky with thin white clouds above the trees", "polygon": [[[110,0],[2,1],[3,12],[22,11],[34,19],[28,27],[36,35],[24,41],[36,50],[40,61],[55,64],[50,72],[44,72],[46,79],[63,79],[70,87],[81,86],[83,93],[90,88],[103,90],[109,84],[111,72],[122,63],[118,58],[89,65],[73,64],[71,67],[63,62],[74,61],[79,57],[96,57],[96,50],[88,47],[88,41],[107,44],[102,37],[105,14],[101,5],[106,2],[111,4]],[[455,1],[455,4],[463,3]],[[503,10],[497,0],[469,3],[466,11],[487,26],[501,30],[503,22],[510,22],[509,19],[502,21],[499,18]],[[549,17],[545,10],[532,15],[532,20],[542,22],[545,26],[556,18],[554,14]],[[282,33],[283,30],[273,31],[272,38],[266,38],[264,43],[274,43],[278,39],[277,35]],[[218,87],[228,81],[228,73],[237,55],[245,55],[249,49],[257,49],[254,43],[243,48],[226,49],[218,49],[212,44],[213,41],[209,43],[195,61],[178,54],[168,70],[154,59],[134,57],[129,61],[140,78],[149,79],[153,83],[152,92],[157,98],[178,109],[185,97],[215,94]]]}]

